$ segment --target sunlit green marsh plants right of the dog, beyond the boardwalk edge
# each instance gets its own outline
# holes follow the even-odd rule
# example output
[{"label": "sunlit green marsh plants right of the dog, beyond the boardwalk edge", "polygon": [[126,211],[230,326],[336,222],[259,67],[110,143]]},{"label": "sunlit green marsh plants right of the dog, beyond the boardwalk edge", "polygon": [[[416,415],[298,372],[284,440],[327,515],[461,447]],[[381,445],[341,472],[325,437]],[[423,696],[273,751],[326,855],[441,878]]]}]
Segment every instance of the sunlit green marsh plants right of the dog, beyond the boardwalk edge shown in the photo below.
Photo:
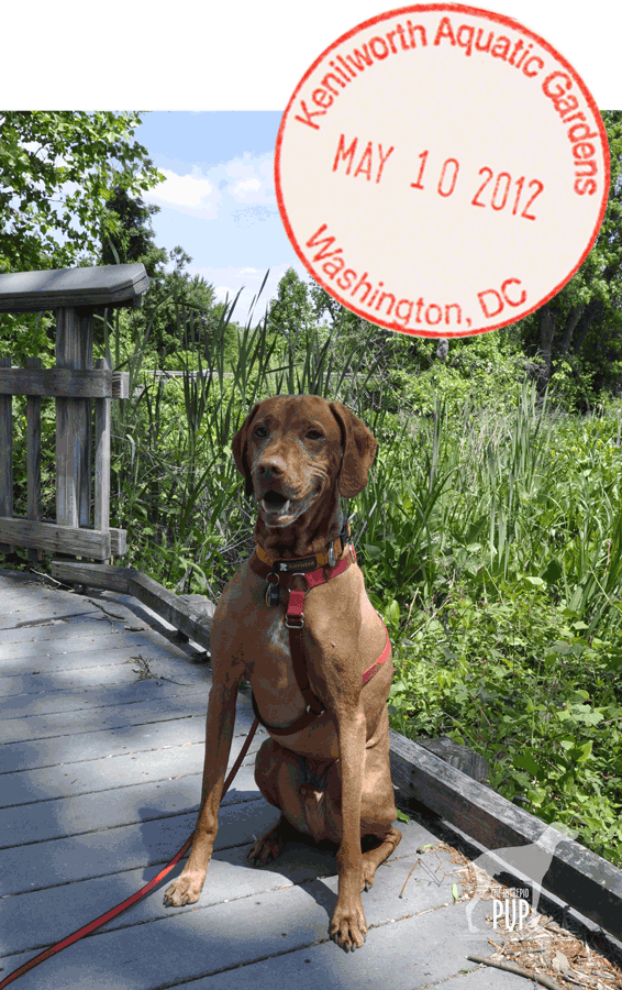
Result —
[{"label": "sunlit green marsh plants right of the dog, beyond the boardwalk edge", "polygon": [[466,743],[506,798],[622,862],[620,410],[555,416],[531,386],[478,413],[396,432],[360,496],[391,723]]}]

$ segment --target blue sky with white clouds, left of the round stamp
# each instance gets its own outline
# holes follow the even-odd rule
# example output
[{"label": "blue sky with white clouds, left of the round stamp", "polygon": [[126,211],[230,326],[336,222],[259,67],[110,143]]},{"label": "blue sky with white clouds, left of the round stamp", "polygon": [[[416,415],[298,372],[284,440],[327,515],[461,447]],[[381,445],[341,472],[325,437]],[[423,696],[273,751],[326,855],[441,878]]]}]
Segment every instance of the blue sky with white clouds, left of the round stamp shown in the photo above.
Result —
[{"label": "blue sky with white clouds, left of the round stamp", "polygon": [[[274,147],[281,114],[270,111],[146,113],[136,132],[166,176],[145,199],[160,207],[153,219],[158,246],[180,244],[190,271],[234,296],[245,319],[264,276],[259,300],[275,294],[292,266],[303,275],[280,221],[273,179]],[[260,307],[263,308],[263,307]]]}]

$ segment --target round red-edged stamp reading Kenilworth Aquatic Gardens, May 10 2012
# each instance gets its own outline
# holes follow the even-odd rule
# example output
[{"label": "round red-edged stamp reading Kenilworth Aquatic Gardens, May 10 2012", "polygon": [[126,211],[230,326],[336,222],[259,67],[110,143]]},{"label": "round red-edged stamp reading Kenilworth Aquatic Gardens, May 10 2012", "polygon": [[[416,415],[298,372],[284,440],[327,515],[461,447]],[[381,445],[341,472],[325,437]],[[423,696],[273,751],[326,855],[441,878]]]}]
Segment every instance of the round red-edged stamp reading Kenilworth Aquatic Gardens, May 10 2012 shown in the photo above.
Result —
[{"label": "round red-edged stamp reading Kenilworth Aquatic Gardens, May 10 2012", "polygon": [[577,271],[609,147],[548,42],[501,14],[418,4],[313,63],[275,178],[289,239],[331,296],[400,333],[464,337],[526,316]]}]

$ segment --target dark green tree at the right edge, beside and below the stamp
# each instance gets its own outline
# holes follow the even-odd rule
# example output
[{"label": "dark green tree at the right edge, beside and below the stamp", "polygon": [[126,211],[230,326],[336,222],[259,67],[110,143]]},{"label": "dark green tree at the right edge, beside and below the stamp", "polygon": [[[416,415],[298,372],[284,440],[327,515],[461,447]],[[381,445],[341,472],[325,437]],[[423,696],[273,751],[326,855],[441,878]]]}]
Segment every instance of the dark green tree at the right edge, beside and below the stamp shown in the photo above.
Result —
[{"label": "dark green tree at the right edge, beside and below the stamp", "polygon": [[564,288],[522,323],[523,345],[537,353],[541,389],[565,364],[585,398],[617,387],[622,360],[622,111],[603,111],[611,153],[609,202],[597,241]]}]

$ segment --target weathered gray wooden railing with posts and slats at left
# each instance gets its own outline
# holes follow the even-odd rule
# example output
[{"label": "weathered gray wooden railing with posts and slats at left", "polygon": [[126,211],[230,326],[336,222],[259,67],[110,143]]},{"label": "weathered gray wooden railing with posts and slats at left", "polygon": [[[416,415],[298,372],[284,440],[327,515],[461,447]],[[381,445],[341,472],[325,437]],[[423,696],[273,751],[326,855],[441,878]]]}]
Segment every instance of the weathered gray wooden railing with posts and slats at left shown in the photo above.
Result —
[{"label": "weathered gray wooden railing with posts and slats at left", "polygon": [[[0,312],[55,310],[56,367],[40,358],[13,367],[0,356],[0,552],[29,548],[108,561],[126,549],[110,528],[110,425],[113,398],[127,398],[129,376],[105,359],[92,366],[93,315],[135,306],[148,287],[141,264],[0,275]],[[13,515],[12,396],[26,396],[26,517]],[[41,403],[56,402],[56,520],[41,516]]]}]

